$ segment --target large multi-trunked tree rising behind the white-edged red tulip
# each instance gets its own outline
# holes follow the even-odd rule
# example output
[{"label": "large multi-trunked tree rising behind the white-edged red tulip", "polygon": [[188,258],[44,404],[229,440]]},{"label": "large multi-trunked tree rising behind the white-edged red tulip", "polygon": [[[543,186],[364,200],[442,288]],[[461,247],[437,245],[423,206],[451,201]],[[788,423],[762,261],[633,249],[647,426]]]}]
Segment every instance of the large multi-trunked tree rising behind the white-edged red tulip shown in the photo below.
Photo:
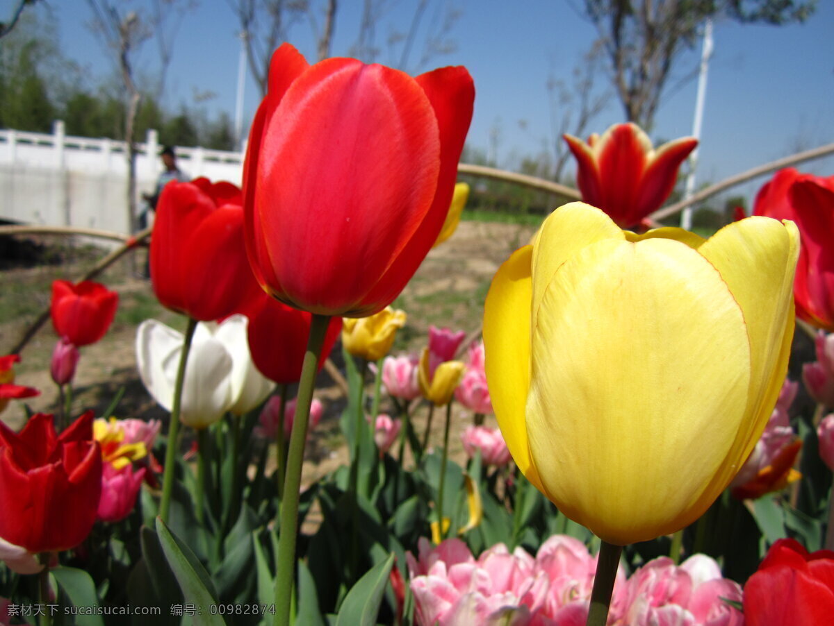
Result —
[{"label": "large multi-trunked tree rising behind the white-edged red tulip", "polygon": [[[696,45],[707,17],[744,23],[801,22],[816,0],[584,0],[599,32],[617,97],[630,122],[651,129],[681,53]],[[684,81],[694,77],[687,72]]]}]

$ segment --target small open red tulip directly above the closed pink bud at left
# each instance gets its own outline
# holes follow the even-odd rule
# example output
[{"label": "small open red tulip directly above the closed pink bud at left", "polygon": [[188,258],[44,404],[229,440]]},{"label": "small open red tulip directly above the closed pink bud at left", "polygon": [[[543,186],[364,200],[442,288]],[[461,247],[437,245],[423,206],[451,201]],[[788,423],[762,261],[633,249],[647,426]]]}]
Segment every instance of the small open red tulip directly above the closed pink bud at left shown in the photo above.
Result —
[{"label": "small open red tulip directly above the closed pink bud at left", "polygon": [[50,312],[55,332],[77,347],[94,344],[104,336],[113,324],[116,306],[118,293],[98,282],[53,282]]}]

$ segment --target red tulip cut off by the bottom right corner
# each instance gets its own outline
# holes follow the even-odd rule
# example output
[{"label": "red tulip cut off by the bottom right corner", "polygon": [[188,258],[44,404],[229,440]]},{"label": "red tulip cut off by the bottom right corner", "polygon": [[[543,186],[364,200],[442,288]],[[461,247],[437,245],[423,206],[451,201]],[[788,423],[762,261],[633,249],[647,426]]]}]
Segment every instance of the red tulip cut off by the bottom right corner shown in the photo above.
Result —
[{"label": "red tulip cut off by the bottom right corner", "polygon": [[834,614],[834,552],[779,539],[744,586],[747,626],[819,626]]}]

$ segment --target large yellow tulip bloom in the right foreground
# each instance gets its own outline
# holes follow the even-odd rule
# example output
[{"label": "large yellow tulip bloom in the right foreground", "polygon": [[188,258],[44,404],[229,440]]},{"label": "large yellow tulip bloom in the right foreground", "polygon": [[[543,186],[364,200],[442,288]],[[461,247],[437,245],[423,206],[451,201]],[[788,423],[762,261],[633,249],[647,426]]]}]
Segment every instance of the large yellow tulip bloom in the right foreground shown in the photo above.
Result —
[{"label": "large yellow tulip bloom in the right foreground", "polygon": [[735,222],[637,236],[574,202],[486,299],[492,405],[516,465],[610,544],[691,524],[746,460],[793,336],[799,236]]}]

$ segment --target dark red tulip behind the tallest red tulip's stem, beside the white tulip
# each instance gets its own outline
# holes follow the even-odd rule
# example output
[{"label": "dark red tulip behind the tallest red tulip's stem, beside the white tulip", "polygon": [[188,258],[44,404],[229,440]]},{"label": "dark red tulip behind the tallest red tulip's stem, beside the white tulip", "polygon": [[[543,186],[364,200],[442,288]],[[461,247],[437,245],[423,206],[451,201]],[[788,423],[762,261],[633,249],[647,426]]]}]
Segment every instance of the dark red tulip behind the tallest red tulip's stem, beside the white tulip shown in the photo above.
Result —
[{"label": "dark red tulip behind the tallest red tulip's stem, beside the white tulip", "polygon": [[[279,384],[297,383],[307,350],[307,336],[313,315],[264,296],[245,311],[249,317],[249,352],[259,372]],[[342,318],[330,320],[324,335],[319,369],[333,349],[342,330]]]}]

